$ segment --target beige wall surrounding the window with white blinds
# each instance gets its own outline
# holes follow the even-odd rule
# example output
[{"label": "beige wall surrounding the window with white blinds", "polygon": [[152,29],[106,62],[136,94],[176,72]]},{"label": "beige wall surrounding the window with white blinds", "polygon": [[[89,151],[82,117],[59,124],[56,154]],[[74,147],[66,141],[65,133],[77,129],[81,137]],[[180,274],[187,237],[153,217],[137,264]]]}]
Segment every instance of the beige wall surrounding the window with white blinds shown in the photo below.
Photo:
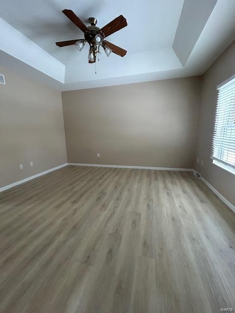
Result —
[{"label": "beige wall surrounding the window with white blinds", "polygon": [[214,62],[203,76],[202,101],[198,126],[196,157],[203,160],[203,166],[195,160],[195,168],[228,201],[235,205],[235,175],[212,164],[211,143],[216,109],[216,87],[235,74],[235,42]]}]

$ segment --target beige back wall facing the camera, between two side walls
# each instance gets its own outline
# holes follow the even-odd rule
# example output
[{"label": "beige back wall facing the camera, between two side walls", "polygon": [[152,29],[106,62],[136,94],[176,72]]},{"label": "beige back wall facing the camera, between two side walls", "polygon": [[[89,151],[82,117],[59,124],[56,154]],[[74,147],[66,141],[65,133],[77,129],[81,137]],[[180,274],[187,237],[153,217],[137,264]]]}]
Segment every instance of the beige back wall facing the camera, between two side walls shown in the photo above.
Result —
[{"label": "beige back wall facing the camera, between two side walls", "polygon": [[192,168],[200,83],[190,77],[62,92],[68,161]]}]

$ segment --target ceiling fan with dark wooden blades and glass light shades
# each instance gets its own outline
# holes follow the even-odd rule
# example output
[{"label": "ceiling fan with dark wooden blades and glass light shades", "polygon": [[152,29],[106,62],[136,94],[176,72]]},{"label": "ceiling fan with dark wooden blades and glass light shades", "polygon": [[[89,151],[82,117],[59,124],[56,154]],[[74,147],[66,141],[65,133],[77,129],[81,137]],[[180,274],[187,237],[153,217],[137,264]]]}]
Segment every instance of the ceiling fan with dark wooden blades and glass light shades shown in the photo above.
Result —
[{"label": "ceiling fan with dark wooden blades and glass light shades", "polygon": [[96,54],[101,53],[100,46],[104,48],[107,56],[113,52],[121,57],[124,57],[127,52],[126,50],[104,40],[104,38],[127,26],[126,19],[122,15],[118,16],[104,27],[99,28],[96,26],[97,20],[95,18],[89,18],[91,26],[86,26],[72,10],[65,9],[62,12],[71,20],[71,22],[73,22],[78,28],[81,29],[81,31],[83,31],[84,39],[61,41],[55,43],[56,45],[59,47],[75,45],[75,47],[81,51],[87,42],[90,45],[88,54],[89,63],[95,63]]}]

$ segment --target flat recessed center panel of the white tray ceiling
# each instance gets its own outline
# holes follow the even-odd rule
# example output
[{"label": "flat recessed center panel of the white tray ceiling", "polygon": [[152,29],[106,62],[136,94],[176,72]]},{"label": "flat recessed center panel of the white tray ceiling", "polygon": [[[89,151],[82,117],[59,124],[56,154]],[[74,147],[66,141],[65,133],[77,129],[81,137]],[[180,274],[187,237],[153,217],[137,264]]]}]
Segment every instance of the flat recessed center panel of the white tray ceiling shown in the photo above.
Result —
[{"label": "flat recessed center panel of the white tray ceiling", "polygon": [[[7,0],[0,2],[0,16],[57,60],[67,65],[79,55],[74,46],[60,48],[57,41],[84,38],[82,31],[63,13],[69,8],[87,25],[95,17],[100,28],[122,14],[128,27],[109,36],[109,41],[128,53],[171,47],[184,0]],[[169,10],[170,8],[170,10]],[[136,43],[144,39],[144,45]],[[88,46],[87,49],[88,50]],[[86,51],[87,52],[87,51]],[[86,53],[87,54],[87,53]]]}]

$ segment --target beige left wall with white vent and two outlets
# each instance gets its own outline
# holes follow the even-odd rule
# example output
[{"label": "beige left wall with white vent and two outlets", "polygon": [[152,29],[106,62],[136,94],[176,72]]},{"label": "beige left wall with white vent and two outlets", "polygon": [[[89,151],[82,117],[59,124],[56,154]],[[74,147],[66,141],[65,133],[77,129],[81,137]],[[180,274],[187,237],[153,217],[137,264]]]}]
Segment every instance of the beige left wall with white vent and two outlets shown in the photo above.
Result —
[{"label": "beige left wall with white vent and two outlets", "polygon": [[4,67],[0,73],[6,79],[6,85],[0,84],[2,187],[64,164],[67,155],[61,92]]}]

